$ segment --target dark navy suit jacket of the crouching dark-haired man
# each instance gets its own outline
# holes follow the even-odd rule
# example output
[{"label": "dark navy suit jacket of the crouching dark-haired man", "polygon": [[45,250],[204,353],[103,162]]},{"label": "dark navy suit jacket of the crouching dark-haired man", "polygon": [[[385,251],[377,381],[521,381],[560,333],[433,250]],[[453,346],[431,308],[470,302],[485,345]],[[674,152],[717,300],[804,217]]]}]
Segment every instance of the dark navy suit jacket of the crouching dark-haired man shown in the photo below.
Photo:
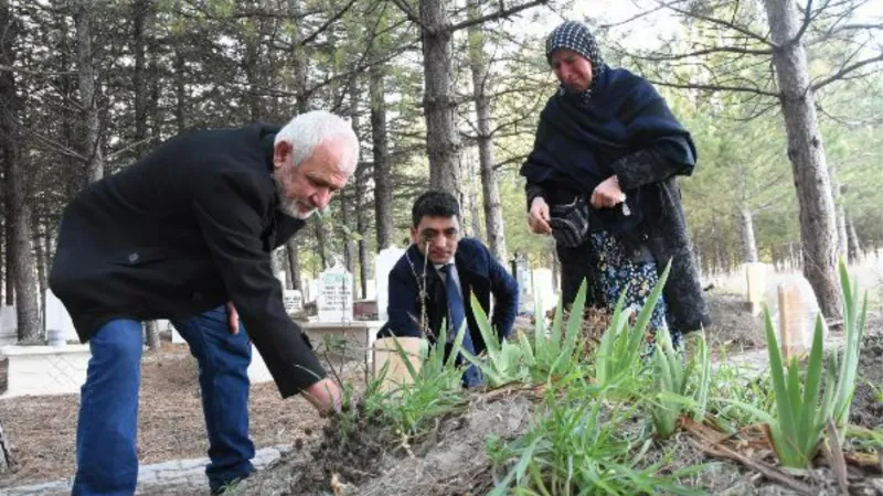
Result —
[{"label": "dark navy suit jacket of the crouching dark-haired man", "polygon": [[[430,262],[426,270],[426,294],[424,298],[421,296],[418,279],[423,279],[424,260],[416,245],[412,245],[390,271],[387,308],[390,320],[380,331],[380,336],[423,336],[419,322],[424,309],[428,328],[432,331],[432,335],[426,337],[430,343],[435,343],[439,336],[442,321],[448,320],[447,294],[442,278]],[[497,331],[498,338],[502,339],[512,331],[518,313],[518,283],[493,258],[490,250],[474,238],[460,240],[454,263],[457,266],[472,344],[476,353],[481,354],[487,345],[476,324],[471,295],[475,294],[487,314],[490,309],[490,295],[493,294],[491,325]]]}]

